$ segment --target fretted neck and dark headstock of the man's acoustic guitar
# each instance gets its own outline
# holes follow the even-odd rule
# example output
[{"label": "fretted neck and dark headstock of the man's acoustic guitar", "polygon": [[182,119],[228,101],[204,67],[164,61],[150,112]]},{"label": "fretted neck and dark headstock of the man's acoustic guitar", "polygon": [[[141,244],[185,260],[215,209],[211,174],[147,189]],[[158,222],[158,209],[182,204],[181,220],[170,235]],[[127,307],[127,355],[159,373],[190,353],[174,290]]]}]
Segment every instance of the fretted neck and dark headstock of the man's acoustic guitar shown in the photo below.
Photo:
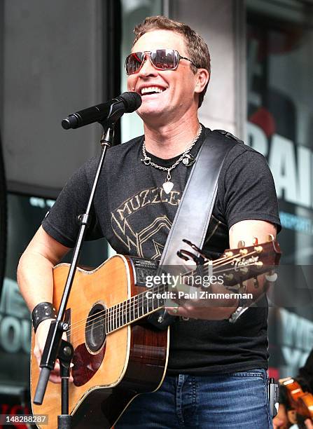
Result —
[{"label": "fretted neck and dark headstock of the man's acoustic guitar", "polygon": [[[243,243],[243,242],[240,242]],[[244,243],[243,243],[244,245]],[[202,275],[221,275],[223,285],[233,286],[241,284],[249,278],[256,278],[260,273],[270,271],[271,266],[279,264],[280,250],[273,236],[269,236],[267,243],[261,245],[239,247],[238,249],[225,250],[220,258],[214,261],[207,260],[202,266]],[[137,285],[145,285],[145,276],[158,272],[156,261],[146,261],[139,258],[130,258],[134,272],[134,282]],[[183,273],[184,276],[193,277],[196,271]],[[150,275],[152,274],[152,275]],[[200,285],[193,285],[201,287]],[[116,331],[125,325],[136,322],[146,315],[154,313],[165,306],[165,300],[171,298],[169,285],[160,284],[146,288],[144,292],[120,302],[104,311],[106,334]]]}]

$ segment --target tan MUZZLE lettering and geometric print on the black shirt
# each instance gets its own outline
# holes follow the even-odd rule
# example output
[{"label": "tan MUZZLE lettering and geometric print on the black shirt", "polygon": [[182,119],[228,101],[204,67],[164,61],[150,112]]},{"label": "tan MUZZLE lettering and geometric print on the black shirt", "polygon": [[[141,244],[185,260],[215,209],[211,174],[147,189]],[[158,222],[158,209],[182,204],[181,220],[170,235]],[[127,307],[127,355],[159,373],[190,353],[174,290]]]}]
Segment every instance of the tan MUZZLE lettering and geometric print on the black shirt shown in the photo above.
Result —
[{"label": "tan MUZZLE lettering and geometric print on the black shirt", "polygon": [[180,199],[180,191],[167,194],[164,189],[154,187],[127,198],[111,212],[113,232],[127,247],[128,254],[160,259],[165,245],[160,238],[166,238],[172,226],[172,216],[166,208],[172,206],[176,211]]}]

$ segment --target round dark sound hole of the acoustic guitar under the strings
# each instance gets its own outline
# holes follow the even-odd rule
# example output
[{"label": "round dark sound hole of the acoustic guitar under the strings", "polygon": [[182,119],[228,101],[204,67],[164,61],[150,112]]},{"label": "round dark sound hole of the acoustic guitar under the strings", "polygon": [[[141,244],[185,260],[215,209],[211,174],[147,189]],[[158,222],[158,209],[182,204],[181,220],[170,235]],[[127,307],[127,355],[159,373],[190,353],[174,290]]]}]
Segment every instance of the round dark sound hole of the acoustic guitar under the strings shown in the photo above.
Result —
[{"label": "round dark sound hole of the acoustic guitar under the strings", "polygon": [[103,304],[95,304],[88,314],[85,326],[86,346],[94,353],[102,348],[106,340],[104,310]]}]

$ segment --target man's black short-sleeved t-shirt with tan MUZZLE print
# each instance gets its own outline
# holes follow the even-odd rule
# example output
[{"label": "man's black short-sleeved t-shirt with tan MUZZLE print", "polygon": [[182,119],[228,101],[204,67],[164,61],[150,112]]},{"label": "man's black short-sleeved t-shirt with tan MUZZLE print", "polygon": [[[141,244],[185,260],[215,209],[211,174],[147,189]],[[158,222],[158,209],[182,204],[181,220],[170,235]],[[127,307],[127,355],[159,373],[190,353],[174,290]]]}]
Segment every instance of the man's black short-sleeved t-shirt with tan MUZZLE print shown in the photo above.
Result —
[{"label": "man's black short-sleeved t-shirt with tan MUZZLE print", "polygon": [[[203,128],[190,154],[196,156],[208,132],[210,130]],[[144,137],[137,137],[112,147],[106,154],[92,207],[94,221],[87,239],[105,237],[118,253],[158,260],[190,167],[179,163],[172,170],[174,187],[165,193],[162,184],[167,171],[141,162],[143,141]],[[179,158],[162,160],[148,155],[153,162],[167,168]],[[97,157],[85,163],[69,179],[43,220],[43,229],[68,247],[76,242],[76,217],[85,212],[96,168]],[[229,247],[230,226],[246,219],[272,222],[280,229],[274,182],[265,158],[238,143],[230,150],[218,178],[204,252],[209,257],[218,257]],[[225,373],[267,367],[266,308],[249,308],[235,325],[224,320],[178,319],[171,327],[168,368],[172,374]]]}]

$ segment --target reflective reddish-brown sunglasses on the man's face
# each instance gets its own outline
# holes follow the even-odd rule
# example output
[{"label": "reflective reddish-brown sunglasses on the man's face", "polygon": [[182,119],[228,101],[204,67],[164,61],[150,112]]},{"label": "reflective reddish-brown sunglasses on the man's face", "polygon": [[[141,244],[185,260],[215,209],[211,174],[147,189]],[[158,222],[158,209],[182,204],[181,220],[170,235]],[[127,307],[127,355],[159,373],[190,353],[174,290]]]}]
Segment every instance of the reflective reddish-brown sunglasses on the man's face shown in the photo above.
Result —
[{"label": "reflective reddish-brown sunglasses on the man's face", "polygon": [[[174,49],[153,49],[145,50],[144,52],[134,52],[128,55],[125,60],[125,69],[128,75],[138,73],[149,55],[151,64],[158,70],[176,70],[180,60],[190,61],[195,67],[197,65],[189,60],[189,58],[182,57],[177,50]],[[199,67],[197,67],[198,69]]]}]

